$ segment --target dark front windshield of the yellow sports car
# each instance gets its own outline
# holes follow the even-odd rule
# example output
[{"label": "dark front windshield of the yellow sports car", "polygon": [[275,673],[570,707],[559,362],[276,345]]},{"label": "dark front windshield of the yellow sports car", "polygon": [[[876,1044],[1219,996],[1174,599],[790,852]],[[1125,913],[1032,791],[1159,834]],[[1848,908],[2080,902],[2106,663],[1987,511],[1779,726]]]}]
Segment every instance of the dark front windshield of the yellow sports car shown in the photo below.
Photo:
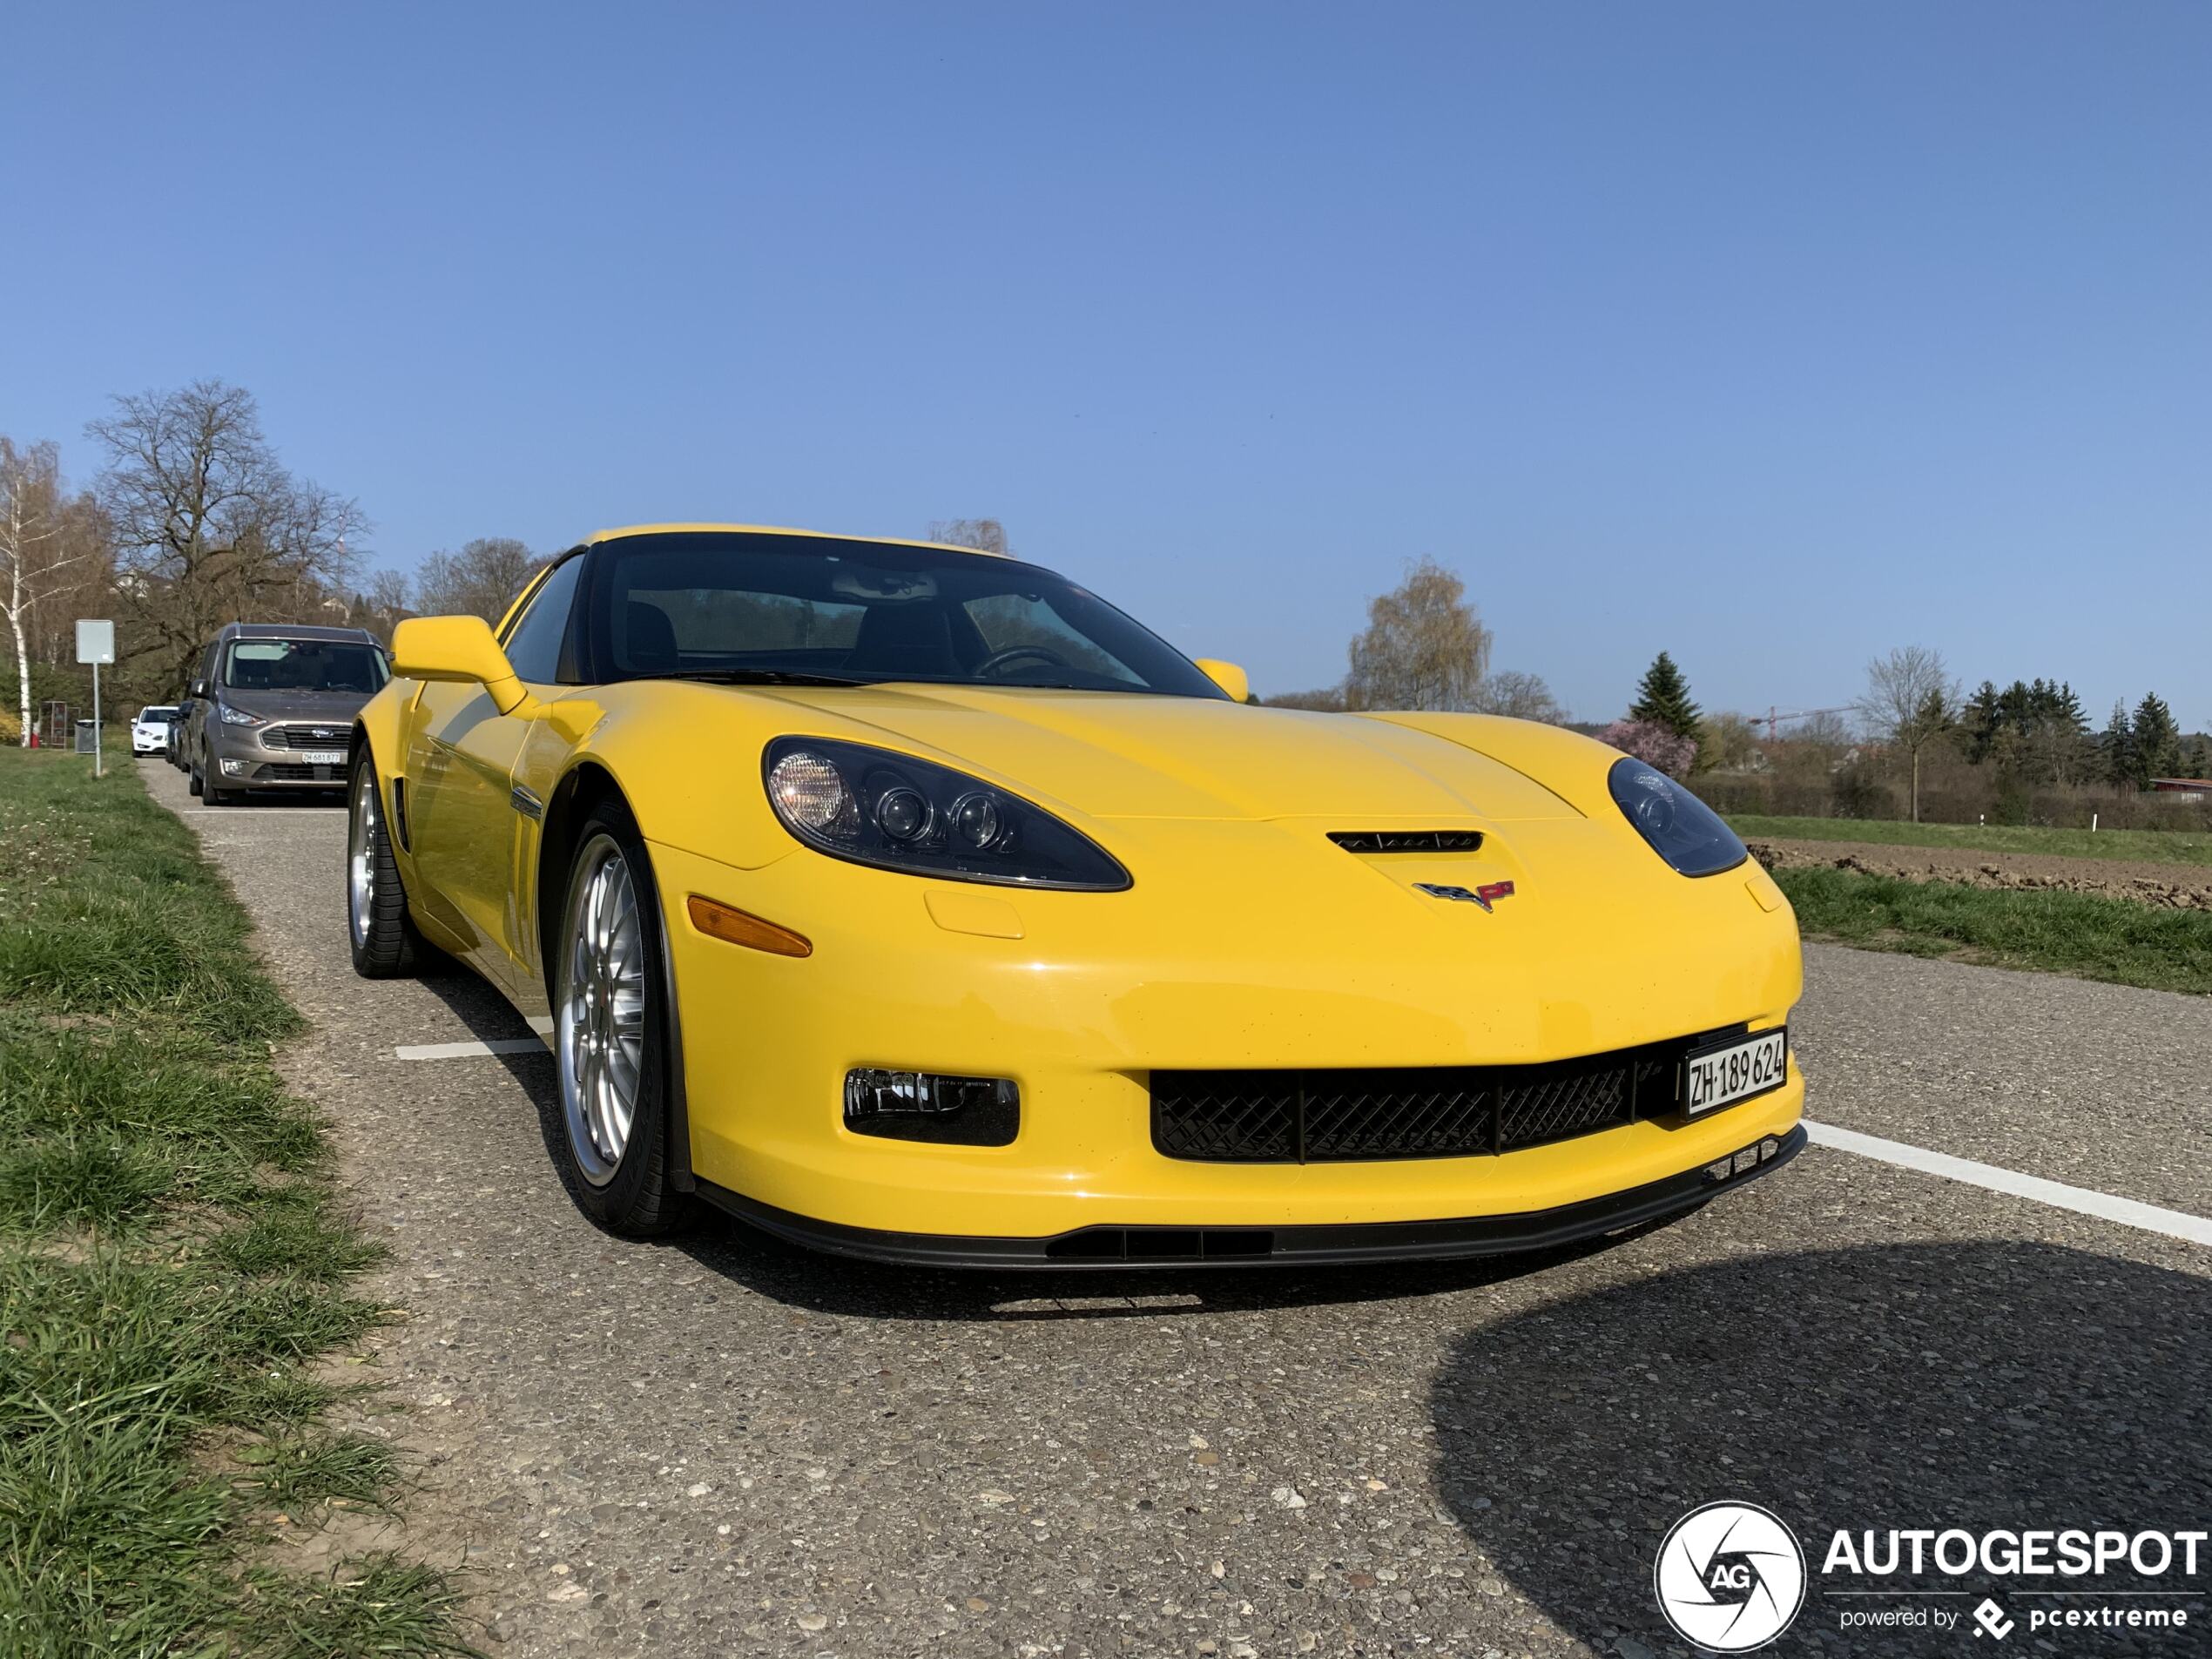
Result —
[{"label": "dark front windshield of the yellow sports car", "polygon": [[889,679],[1221,697],[1175,646],[1018,560],[812,535],[637,535],[595,580],[608,679]]}]

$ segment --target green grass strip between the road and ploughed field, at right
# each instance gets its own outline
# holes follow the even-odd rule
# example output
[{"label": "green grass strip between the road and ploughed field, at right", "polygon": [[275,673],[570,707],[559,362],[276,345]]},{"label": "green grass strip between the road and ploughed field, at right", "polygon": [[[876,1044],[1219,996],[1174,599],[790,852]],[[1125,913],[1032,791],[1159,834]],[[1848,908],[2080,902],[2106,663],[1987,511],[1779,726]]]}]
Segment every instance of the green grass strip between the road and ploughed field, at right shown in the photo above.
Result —
[{"label": "green grass strip between the road and ploughed field, at right", "polygon": [[1805,938],[2212,995],[2212,914],[2090,894],[1776,869]]}]

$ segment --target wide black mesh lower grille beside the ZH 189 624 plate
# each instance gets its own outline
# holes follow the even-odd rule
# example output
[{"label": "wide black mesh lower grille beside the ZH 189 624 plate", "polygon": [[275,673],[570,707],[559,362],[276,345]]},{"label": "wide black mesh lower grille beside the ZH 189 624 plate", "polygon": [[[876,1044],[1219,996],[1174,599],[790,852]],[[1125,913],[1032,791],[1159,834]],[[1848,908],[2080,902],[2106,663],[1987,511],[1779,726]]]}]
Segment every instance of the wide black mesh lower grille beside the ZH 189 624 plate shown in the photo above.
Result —
[{"label": "wide black mesh lower grille beside the ZH 189 624 plate", "polygon": [[1542,1066],[1155,1071],[1152,1146],[1210,1164],[1517,1152],[1674,1110],[1683,1051],[1741,1029]]}]

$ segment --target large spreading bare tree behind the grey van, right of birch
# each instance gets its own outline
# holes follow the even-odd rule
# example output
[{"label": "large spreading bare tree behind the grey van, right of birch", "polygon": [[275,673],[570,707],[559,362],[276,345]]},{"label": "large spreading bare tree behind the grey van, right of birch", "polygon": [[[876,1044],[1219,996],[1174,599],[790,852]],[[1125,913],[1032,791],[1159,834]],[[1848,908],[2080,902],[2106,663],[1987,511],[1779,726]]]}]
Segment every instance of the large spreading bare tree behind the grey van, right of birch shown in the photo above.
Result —
[{"label": "large spreading bare tree behind the grey van, right of birch", "polygon": [[86,431],[106,449],[100,502],[115,533],[131,657],[170,684],[223,622],[319,615],[358,553],[361,509],[292,478],[250,392],[195,380],[115,398]]}]

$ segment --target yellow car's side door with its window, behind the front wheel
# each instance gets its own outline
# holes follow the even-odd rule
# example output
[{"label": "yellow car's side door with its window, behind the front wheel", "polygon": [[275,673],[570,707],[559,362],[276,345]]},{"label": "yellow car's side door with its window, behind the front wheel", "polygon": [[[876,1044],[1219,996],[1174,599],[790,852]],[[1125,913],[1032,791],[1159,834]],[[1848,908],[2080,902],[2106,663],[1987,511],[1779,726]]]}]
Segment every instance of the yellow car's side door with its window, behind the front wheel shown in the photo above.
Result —
[{"label": "yellow car's side door with its window, behind the front wheel", "polygon": [[515,763],[562,697],[582,568],[575,553],[555,564],[502,635],[529,703],[502,714],[482,686],[425,684],[407,739],[409,843],[431,889],[425,900],[467,940],[469,964],[518,993],[535,989],[518,960],[529,900],[515,876],[524,838],[535,847],[538,803],[515,794]]}]

